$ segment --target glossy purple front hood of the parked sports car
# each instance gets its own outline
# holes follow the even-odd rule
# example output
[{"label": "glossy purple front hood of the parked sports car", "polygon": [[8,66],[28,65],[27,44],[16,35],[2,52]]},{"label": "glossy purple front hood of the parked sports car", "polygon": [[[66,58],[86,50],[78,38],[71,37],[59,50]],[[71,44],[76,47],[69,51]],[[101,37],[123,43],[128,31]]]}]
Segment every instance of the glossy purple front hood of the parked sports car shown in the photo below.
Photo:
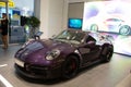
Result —
[{"label": "glossy purple front hood of the parked sports car", "polygon": [[34,40],[26,47],[20,49],[15,58],[26,63],[48,65],[53,61],[47,61],[46,55],[53,49],[59,49],[60,52],[69,53],[74,50],[74,47],[71,44],[56,40]]}]

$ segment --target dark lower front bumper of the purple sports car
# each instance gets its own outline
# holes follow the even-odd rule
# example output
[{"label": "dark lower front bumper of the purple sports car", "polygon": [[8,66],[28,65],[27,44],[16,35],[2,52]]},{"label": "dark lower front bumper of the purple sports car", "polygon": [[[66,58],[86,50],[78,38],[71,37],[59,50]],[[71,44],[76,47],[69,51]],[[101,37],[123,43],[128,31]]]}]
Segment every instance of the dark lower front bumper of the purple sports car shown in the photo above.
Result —
[{"label": "dark lower front bumper of the purple sports car", "polygon": [[57,67],[43,67],[43,66],[20,66],[16,63],[14,64],[16,73],[28,77],[28,78],[36,78],[36,79],[51,79],[61,76],[61,65]]}]

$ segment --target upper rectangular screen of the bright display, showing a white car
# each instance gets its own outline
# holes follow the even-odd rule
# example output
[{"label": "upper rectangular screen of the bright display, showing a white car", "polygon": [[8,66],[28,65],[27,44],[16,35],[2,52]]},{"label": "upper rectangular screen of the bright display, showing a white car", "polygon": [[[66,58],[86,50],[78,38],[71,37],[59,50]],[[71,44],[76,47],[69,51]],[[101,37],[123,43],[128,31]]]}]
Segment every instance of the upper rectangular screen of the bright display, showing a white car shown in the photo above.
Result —
[{"label": "upper rectangular screen of the bright display, showing a white car", "polygon": [[[119,5],[118,5],[119,4]],[[124,5],[124,7],[121,7]],[[124,1],[94,1],[85,4],[83,29],[131,35],[131,4]]]}]

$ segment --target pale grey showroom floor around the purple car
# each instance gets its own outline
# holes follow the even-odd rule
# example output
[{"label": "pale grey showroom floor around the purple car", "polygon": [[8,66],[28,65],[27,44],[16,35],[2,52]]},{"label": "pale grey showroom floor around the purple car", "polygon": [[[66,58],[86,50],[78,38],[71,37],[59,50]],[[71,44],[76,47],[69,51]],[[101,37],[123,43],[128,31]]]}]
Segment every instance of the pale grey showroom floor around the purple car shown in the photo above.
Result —
[{"label": "pale grey showroom floor around the purple car", "polygon": [[116,87],[130,74],[131,58],[114,53],[109,63],[98,63],[81,70],[69,80],[52,79],[33,82],[24,79],[14,71],[14,53],[21,46],[10,46],[3,50],[0,46],[0,87]]}]

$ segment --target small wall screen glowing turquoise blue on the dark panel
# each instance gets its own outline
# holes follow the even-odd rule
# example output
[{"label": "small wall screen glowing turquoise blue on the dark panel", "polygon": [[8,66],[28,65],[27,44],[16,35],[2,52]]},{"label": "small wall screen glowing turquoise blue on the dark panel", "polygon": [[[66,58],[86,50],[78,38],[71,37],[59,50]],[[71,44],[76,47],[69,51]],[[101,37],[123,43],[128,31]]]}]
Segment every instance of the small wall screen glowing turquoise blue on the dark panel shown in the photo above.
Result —
[{"label": "small wall screen glowing turquoise blue on the dark panel", "polygon": [[82,18],[69,18],[68,27],[74,29],[82,29]]}]

